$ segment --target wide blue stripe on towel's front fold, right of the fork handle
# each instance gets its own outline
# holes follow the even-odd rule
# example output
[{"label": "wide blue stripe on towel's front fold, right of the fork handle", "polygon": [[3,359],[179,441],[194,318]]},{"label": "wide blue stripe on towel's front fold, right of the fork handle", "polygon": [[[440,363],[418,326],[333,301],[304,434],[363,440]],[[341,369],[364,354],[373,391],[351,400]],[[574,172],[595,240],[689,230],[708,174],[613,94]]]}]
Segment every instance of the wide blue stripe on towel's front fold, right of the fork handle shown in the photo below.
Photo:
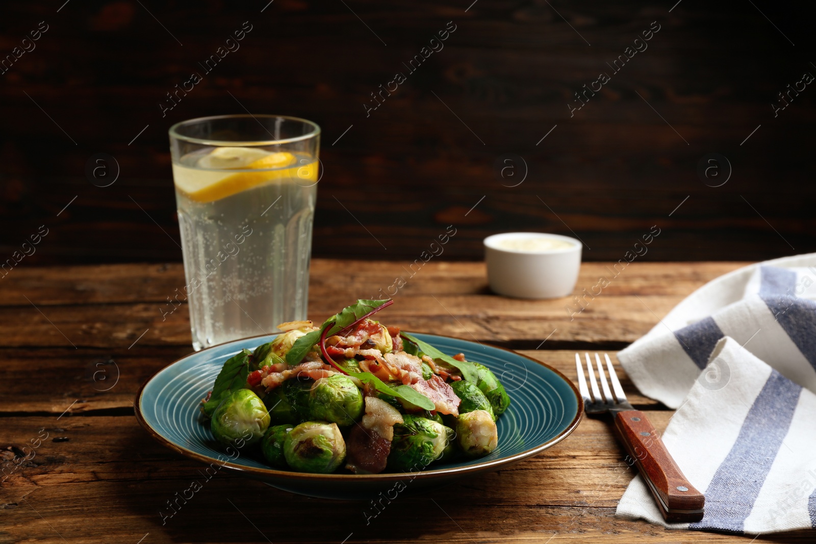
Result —
[{"label": "wide blue stripe on towel's front fold, right of the fork handle", "polygon": [[771,370],[731,451],[708,484],[705,517],[690,524],[689,529],[743,532],[745,519],[791,426],[801,391],[796,383]]}]

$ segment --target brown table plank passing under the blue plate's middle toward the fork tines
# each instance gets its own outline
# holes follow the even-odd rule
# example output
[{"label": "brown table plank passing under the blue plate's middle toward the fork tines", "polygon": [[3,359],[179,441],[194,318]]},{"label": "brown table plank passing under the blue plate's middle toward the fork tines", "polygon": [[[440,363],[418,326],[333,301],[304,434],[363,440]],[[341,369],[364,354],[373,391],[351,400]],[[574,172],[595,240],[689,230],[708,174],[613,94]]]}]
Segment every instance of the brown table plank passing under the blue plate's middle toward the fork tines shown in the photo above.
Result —
[{"label": "brown table plank passing under the blue plate's middle toward the fork tines", "polygon": [[[45,348],[0,350],[0,415],[83,414],[99,410],[130,410],[145,380],[172,361],[187,355],[190,348],[133,348],[132,350],[64,350]],[[526,351],[575,379],[574,352]],[[614,358],[614,353],[610,353]],[[47,371],[43,368],[47,366]],[[619,378],[633,405],[642,409],[664,409],[655,400],[638,394],[620,369]],[[525,376],[502,376],[508,387],[519,387]],[[55,387],[59,384],[59,387]],[[511,393],[512,395],[512,393]]]}]

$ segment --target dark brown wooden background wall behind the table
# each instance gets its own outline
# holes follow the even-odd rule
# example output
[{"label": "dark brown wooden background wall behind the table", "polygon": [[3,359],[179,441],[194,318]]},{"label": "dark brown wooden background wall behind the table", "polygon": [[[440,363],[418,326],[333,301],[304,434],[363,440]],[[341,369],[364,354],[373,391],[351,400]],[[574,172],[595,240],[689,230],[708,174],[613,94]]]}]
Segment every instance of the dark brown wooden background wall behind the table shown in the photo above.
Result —
[{"label": "dark brown wooden background wall behind the table", "polygon": [[[816,250],[816,84],[771,107],[816,75],[813,7],[471,2],[2,2],[0,55],[48,25],[0,75],[2,259],[44,224],[27,265],[180,260],[167,128],[244,107],[322,126],[315,256],[415,259],[451,223],[451,259],[480,259],[482,237],[510,230],[574,232],[584,259],[621,259],[654,224],[646,260]],[[162,117],[166,92],[244,21],[241,48]],[[444,49],[408,74],[448,21]],[[648,49],[613,74],[652,21]],[[397,71],[408,81],[366,117]],[[611,81],[570,117],[601,72]],[[86,179],[95,153],[118,161],[109,187]],[[521,163],[496,175],[505,153],[526,162],[516,187]],[[707,153],[730,161],[720,187],[698,177]]]}]

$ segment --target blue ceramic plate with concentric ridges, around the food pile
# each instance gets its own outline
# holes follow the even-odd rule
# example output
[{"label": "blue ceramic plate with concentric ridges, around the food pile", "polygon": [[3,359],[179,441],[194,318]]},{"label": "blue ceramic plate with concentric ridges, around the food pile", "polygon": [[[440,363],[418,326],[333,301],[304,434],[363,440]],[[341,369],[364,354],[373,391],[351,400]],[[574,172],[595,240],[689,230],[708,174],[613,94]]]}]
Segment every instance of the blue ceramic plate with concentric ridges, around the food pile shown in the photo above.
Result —
[{"label": "blue ceramic plate with concentric ridges, around the food pile", "polygon": [[198,404],[211,390],[225,360],[242,348],[253,350],[269,342],[274,334],[211,347],[159,370],[136,396],[136,418],[160,443],[210,465],[207,471],[241,471],[278,489],[310,497],[363,500],[395,486],[398,490],[403,485],[406,489],[438,486],[508,467],[543,452],[578,427],[583,401],[570,380],[556,369],[500,347],[432,334],[416,336],[449,355],[463,352],[468,360],[486,365],[508,391],[511,404],[497,422],[499,445],[490,455],[434,463],[415,473],[326,475],[278,471],[249,453],[224,452],[215,445],[209,425],[202,424]]}]

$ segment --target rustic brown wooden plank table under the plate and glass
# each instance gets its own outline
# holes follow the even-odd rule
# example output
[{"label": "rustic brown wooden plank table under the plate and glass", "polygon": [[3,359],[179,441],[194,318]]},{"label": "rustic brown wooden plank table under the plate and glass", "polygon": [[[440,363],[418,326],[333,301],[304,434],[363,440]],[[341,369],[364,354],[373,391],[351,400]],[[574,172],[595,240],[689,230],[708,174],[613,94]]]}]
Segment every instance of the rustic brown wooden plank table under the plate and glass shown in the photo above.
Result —
[{"label": "rustic brown wooden plank table under the plate and glass", "polygon": [[[570,320],[570,299],[490,294],[482,263],[432,261],[408,279],[402,263],[316,260],[309,309],[321,321],[405,276],[383,315],[389,324],[512,347],[574,378],[574,350],[620,349],[696,287],[742,264],[635,262]],[[600,275],[609,275],[605,263],[584,263],[576,292]],[[162,524],[159,511],[201,466],[151,440],[132,405],[145,379],[191,351],[187,307],[165,321],[160,312],[182,285],[180,264],[16,268],[2,279],[2,467],[16,466],[11,460],[29,453],[22,448],[31,440],[48,438],[0,483],[0,544],[751,542],[616,519],[632,472],[608,425],[591,418],[535,458],[406,494],[369,524],[365,504],[304,498],[229,473]],[[623,387],[665,427],[671,410],[625,377]],[[754,542],[814,540],[816,532],[804,531]]]}]

